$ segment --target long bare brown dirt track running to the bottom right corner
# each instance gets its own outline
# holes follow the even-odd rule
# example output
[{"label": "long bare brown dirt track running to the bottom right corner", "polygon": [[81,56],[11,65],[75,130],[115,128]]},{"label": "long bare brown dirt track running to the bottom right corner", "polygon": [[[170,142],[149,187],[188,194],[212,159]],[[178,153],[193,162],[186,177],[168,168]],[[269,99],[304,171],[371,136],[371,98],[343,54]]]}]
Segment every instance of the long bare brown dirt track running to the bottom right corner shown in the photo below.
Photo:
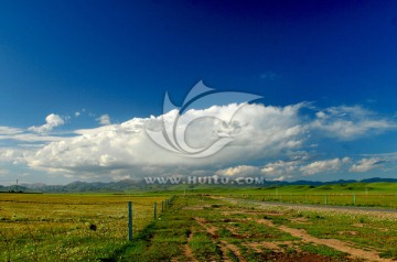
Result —
[{"label": "long bare brown dirt track running to the bottom right corner", "polygon": [[358,258],[358,259],[365,258],[366,260],[369,260],[369,261],[383,261],[383,262],[393,261],[390,259],[380,258],[378,252],[376,252],[376,251],[367,251],[367,250],[353,248],[350,243],[343,242],[343,241],[337,240],[337,239],[319,239],[319,238],[315,238],[315,237],[309,234],[304,229],[289,228],[287,226],[277,227],[270,220],[266,220],[266,219],[258,219],[257,221],[260,222],[260,223],[264,223],[264,225],[266,225],[268,227],[278,228],[281,231],[288,232],[293,237],[300,238],[304,242],[312,242],[312,243],[316,243],[316,244],[325,244],[325,245],[328,245],[330,248],[333,248],[335,250],[348,253],[348,254],[351,254],[352,258]]}]

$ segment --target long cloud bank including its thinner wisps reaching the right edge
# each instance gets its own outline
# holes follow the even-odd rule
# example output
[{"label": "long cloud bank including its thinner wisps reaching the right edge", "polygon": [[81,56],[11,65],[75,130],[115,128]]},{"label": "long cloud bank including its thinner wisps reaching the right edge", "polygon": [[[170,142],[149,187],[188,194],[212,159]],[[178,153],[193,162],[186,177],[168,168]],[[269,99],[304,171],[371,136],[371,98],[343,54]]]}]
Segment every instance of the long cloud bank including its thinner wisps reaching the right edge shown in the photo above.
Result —
[{"label": "long cloud bank including its thinner wisps reaching the right edge", "polygon": [[[301,113],[302,108],[314,110],[314,114]],[[191,109],[181,116],[175,127],[176,133],[178,129],[185,130],[184,139],[189,146],[205,146],[225,134],[232,140],[211,156],[192,159],[159,146],[147,133],[147,130],[161,131],[162,121],[172,125],[175,113],[178,111],[173,110],[159,117],[133,118],[120,124],[77,130],[76,137],[50,142],[26,156],[26,163],[35,170],[85,177],[207,172],[218,175],[260,174],[282,179],[297,173],[337,172],[346,165],[351,165],[351,172],[364,172],[379,165],[379,161],[352,163],[348,157],[340,157],[308,163],[310,157],[305,149],[313,135],[353,140],[395,128],[394,122],[361,107],[315,110],[307,103],[286,107],[230,103]],[[222,121],[224,119],[229,121]],[[276,159],[282,160],[271,162]],[[246,164],[253,162],[259,164]]]}]

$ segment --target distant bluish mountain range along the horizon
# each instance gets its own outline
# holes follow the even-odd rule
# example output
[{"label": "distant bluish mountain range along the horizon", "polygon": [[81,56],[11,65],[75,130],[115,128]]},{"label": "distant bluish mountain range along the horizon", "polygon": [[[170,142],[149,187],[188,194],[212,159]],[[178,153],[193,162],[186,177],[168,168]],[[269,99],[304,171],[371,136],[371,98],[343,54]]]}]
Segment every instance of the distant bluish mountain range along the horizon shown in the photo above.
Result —
[{"label": "distant bluish mountain range along the horizon", "polygon": [[[377,183],[377,182],[387,182],[387,183],[397,183],[396,178],[380,178],[373,177],[362,181],[354,179],[340,179],[333,182],[314,182],[314,181],[296,181],[296,182],[273,182],[266,181],[262,185],[264,187],[268,186],[288,186],[288,185],[308,185],[308,186],[322,186],[322,185],[333,185],[333,184],[351,184],[351,183]],[[143,192],[143,190],[172,190],[172,189],[183,189],[186,185],[159,185],[159,184],[147,184],[144,181],[131,181],[125,179],[119,182],[73,182],[67,185],[45,185],[43,183],[36,184],[21,184],[12,186],[2,186],[0,185],[0,192],[23,192],[23,193],[133,193],[133,192]],[[191,188],[201,188],[208,186],[217,187],[249,187],[249,185],[238,186],[238,185],[189,185]],[[260,187],[258,185],[251,185],[251,187]]]}]

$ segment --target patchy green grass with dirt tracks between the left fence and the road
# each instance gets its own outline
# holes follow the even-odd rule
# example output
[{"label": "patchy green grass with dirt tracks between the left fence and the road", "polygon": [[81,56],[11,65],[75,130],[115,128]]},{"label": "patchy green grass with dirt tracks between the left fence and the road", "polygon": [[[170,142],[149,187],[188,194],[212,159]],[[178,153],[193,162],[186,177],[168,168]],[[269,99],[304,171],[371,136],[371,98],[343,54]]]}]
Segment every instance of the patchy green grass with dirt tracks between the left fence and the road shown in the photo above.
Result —
[{"label": "patchy green grass with dirt tracks between the left fence and the road", "polygon": [[[318,242],[286,230],[304,230]],[[339,241],[334,247],[326,241]],[[396,217],[232,204],[211,196],[176,197],[121,261],[366,261],[397,259]],[[323,243],[322,243],[323,242]],[[346,248],[347,247],[347,248]]]}]

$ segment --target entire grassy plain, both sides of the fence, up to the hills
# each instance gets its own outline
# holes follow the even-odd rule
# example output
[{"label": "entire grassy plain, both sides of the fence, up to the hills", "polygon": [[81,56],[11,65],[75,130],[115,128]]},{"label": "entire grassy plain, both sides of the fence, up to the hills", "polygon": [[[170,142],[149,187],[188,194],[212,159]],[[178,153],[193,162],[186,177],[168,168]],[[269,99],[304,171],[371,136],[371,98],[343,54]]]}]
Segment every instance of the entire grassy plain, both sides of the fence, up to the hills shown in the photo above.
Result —
[{"label": "entire grassy plain, both sides of the fence, up to the hills", "polygon": [[[356,206],[396,208],[396,183],[353,183],[0,194],[0,261],[363,261],[326,242],[302,241],[282,227],[397,259],[395,217],[259,207],[262,200],[352,206],[355,196]],[[161,201],[171,195],[176,196],[172,208],[161,212]],[[127,241],[128,201],[133,203],[132,242]]]}]

